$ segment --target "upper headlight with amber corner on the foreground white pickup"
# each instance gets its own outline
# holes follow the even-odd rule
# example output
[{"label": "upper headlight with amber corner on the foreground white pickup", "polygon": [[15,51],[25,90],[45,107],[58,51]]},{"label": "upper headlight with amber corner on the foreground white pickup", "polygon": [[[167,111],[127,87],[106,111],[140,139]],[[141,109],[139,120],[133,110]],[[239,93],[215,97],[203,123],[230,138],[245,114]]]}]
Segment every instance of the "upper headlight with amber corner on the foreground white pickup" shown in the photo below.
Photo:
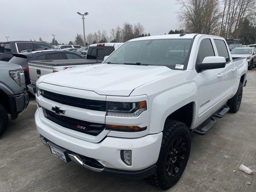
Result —
[{"label": "upper headlight with amber corner on the foreground white pickup", "polygon": [[147,110],[146,101],[112,102],[107,101],[107,116],[138,117]]}]

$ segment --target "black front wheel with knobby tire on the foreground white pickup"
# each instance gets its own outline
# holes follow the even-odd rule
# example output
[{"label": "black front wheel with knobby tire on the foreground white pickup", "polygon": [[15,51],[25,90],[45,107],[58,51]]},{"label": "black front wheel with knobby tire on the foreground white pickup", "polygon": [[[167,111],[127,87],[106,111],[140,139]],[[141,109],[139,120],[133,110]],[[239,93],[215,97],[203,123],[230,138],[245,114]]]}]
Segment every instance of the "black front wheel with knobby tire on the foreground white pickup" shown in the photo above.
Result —
[{"label": "black front wheel with knobby tire on the foreground white pickup", "polygon": [[190,155],[191,139],[188,127],[176,120],[164,124],[162,144],[156,173],[148,180],[162,190],[172,187],[182,176]]}]

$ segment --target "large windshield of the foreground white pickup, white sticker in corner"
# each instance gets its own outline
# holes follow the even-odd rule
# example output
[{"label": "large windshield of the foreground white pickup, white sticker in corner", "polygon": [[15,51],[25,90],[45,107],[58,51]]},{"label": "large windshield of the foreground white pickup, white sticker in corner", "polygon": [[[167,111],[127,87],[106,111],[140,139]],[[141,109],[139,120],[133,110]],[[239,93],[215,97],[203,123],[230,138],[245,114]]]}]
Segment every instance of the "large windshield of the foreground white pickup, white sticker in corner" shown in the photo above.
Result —
[{"label": "large windshield of the foreground white pickup, white sticker in corner", "polygon": [[[118,48],[105,62],[142,64],[186,69],[193,39],[130,41]],[[178,66],[178,67],[177,67]]]}]

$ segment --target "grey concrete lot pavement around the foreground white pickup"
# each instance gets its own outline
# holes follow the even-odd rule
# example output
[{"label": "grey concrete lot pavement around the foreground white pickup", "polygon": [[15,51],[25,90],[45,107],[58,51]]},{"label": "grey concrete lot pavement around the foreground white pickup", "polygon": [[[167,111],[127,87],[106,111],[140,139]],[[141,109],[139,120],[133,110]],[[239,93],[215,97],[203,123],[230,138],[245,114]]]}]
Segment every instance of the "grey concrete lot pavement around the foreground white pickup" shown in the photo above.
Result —
[{"label": "grey concrete lot pavement around the foreground white pickup", "polygon": [[[247,79],[240,110],[217,118],[205,136],[192,134],[186,170],[168,191],[256,191],[256,176],[238,170],[241,164],[256,169],[256,68],[248,71]],[[36,101],[32,100],[0,138],[1,192],[161,191],[145,180],[96,173],[55,158],[39,139],[35,111]]]}]

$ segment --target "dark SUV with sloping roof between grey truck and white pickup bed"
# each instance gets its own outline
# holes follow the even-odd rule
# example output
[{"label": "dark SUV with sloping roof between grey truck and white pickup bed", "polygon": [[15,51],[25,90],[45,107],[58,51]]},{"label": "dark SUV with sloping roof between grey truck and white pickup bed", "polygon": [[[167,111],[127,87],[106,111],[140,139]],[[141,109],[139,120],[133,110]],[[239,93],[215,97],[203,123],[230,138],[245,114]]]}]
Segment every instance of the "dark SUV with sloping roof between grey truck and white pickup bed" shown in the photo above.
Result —
[{"label": "dark SUV with sloping roof between grey truck and white pickup bed", "polygon": [[59,60],[59,59],[84,59],[83,56],[70,52],[68,50],[38,50],[32,52],[23,52],[13,54],[14,57],[9,61],[10,63],[22,66],[25,74],[26,85],[30,84],[28,62],[33,60]]}]

